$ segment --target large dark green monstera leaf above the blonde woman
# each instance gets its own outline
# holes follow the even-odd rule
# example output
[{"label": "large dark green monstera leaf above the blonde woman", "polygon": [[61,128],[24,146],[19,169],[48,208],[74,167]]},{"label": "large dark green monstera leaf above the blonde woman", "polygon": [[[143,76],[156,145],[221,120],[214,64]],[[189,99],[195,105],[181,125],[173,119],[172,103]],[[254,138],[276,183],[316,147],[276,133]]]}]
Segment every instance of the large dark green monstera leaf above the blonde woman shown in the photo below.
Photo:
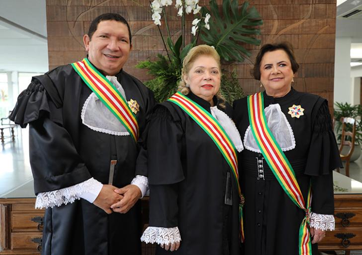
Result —
[{"label": "large dark green monstera leaf above the blonde woman", "polygon": [[239,6],[238,0],[223,0],[222,15],[220,15],[216,0],[210,1],[210,9],[204,7],[203,12],[211,12],[210,30],[202,28],[202,41],[214,46],[221,59],[226,61],[243,62],[251,53],[241,43],[260,45],[260,40],[253,38],[260,35],[257,26],[263,20],[255,7],[248,9],[249,3]]}]

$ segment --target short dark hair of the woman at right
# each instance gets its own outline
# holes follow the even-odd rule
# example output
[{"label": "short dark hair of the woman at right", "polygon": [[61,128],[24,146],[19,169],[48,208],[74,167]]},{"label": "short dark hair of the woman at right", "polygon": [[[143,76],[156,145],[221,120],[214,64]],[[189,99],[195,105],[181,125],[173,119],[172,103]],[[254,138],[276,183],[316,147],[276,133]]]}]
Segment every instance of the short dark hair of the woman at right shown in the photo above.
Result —
[{"label": "short dark hair of the woman at right", "polygon": [[256,59],[251,74],[254,76],[254,79],[260,80],[260,63],[262,62],[264,54],[267,52],[273,52],[276,50],[283,50],[289,57],[291,63],[291,69],[296,73],[299,69],[299,64],[295,60],[293,46],[290,43],[275,43],[275,44],[265,44],[260,49]]}]

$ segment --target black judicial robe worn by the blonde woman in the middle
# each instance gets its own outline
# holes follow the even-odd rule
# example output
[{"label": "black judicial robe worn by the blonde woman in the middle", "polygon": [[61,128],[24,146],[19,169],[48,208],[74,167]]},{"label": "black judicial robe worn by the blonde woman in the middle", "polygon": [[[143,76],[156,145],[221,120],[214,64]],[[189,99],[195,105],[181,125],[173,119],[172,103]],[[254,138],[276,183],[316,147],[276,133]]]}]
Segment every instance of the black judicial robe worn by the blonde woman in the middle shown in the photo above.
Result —
[{"label": "black judicial robe worn by the blonde woman in the middle", "polygon": [[[210,112],[207,101],[187,97]],[[231,116],[230,105],[218,109]],[[147,137],[149,225],[179,228],[181,246],[172,254],[239,255],[238,190],[231,176],[233,205],[225,205],[232,173],[215,143],[171,102],[155,107]],[[169,253],[157,246],[157,255]]]}]

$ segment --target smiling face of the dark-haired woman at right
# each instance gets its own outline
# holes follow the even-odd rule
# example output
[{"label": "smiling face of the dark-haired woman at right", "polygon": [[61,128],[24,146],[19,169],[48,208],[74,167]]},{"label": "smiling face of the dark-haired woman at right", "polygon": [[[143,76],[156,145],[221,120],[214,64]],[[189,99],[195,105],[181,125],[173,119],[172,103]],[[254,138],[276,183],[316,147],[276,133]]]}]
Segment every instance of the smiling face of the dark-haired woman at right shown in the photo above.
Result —
[{"label": "smiling face of the dark-haired woman at right", "polygon": [[294,73],[285,51],[265,53],[260,63],[260,74],[267,95],[282,97],[290,91]]}]

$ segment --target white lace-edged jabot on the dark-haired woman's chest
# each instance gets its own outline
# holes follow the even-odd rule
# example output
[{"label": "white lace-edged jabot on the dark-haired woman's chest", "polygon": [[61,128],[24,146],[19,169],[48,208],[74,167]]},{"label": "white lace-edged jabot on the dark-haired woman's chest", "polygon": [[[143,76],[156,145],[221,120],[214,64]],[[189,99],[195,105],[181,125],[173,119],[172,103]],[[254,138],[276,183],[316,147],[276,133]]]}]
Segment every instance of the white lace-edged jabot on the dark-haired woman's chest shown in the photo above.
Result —
[{"label": "white lace-edged jabot on the dark-haired woman's chest", "polygon": [[[282,151],[295,148],[295,138],[285,115],[281,112],[279,104],[272,104],[264,109],[267,124],[274,135]],[[244,136],[244,146],[247,150],[260,152],[259,146],[254,138],[250,126],[246,129]]]}]

